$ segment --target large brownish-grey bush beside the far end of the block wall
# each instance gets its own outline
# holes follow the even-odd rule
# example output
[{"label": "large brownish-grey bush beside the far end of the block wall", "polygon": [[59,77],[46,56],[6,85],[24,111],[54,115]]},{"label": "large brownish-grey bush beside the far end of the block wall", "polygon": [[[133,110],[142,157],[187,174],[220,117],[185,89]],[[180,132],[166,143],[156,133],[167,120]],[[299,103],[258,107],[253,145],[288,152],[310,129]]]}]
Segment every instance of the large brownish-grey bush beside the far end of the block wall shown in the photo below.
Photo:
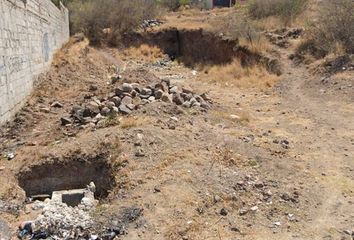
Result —
[{"label": "large brownish-grey bush beside the far end of the block wall", "polygon": [[154,0],[86,0],[69,4],[72,33],[83,32],[91,44],[116,44],[157,14]]}]

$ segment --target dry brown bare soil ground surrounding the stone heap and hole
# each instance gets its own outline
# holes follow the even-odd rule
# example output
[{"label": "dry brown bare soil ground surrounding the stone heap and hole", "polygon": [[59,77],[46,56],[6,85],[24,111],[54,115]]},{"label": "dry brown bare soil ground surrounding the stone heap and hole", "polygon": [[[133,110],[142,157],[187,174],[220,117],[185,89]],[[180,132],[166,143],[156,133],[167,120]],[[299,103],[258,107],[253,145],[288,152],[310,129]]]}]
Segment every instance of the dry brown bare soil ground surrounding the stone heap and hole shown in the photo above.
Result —
[{"label": "dry brown bare soil ground surrounding the stone heap and hole", "polygon": [[[160,28],[204,27],[224,11],[168,16]],[[132,50],[72,41],[15,120],[0,130],[0,151],[15,153],[0,161],[0,217],[13,230],[36,214],[24,204],[22,171],[103,154],[115,182],[95,217],[108,222],[124,207],[143,209],[122,239],[352,239],[353,71],[333,76],[338,84],[323,83],[323,74],[289,60],[291,48],[273,46],[283,74],[269,75],[271,84],[218,84],[217,75],[198,68],[156,64],[163,56],[156,49],[138,59]],[[123,77],[115,85],[112,66]],[[207,92],[211,109],[157,101],[98,129],[60,124],[87,96],[162,78]],[[55,101],[63,108],[51,108]]]}]

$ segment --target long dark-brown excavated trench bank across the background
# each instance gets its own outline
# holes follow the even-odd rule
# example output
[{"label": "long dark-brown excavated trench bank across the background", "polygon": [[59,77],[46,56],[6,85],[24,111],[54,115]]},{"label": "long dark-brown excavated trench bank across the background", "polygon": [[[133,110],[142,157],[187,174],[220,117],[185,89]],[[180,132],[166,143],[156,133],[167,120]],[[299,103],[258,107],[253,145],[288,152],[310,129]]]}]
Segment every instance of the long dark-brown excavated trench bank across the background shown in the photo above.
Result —
[{"label": "long dark-brown excavated trench bank across the background", "polygon": [[187,67],[223,65],[238,59],[243,67],[262,64],[270,73],[281,74],[276,59],[269,59],[240,46],[237,39],[215,35],[203,29],[166,29],[157,32],[143,32],[126,35],[125,47],[139,47],[141,44],[156,46],[169,57],[177,59]]}]

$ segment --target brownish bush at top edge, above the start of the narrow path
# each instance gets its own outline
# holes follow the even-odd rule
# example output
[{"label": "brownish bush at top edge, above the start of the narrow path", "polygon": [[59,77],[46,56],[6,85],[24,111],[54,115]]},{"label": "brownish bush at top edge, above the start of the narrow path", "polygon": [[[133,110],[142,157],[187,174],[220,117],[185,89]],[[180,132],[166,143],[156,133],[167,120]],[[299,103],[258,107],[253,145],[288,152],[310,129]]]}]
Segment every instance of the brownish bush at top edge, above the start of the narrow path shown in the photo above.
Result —
[{"label": "brownish bush at top edge, above the start of the narrow path", "polygon": [[309,0],[253,0],[248,5],[248,12],[256,19],[278,16],[288,24],[306,9],[308,2]]}]

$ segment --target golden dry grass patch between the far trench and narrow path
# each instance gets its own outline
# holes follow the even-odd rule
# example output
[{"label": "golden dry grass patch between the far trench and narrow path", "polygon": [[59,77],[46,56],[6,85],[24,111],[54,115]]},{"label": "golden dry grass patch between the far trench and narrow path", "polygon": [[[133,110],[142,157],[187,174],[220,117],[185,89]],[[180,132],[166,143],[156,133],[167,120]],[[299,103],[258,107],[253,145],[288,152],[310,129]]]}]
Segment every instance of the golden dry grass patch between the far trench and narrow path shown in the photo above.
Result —
[{"label": "golden dry grass patch between the far trench and narrow path", "polygon": [[221,86],[266,89],[272,87],[279,77],[268,73],[263,66],[242,67],[234,60],[227,65],[204,69],[204,79]]}]

